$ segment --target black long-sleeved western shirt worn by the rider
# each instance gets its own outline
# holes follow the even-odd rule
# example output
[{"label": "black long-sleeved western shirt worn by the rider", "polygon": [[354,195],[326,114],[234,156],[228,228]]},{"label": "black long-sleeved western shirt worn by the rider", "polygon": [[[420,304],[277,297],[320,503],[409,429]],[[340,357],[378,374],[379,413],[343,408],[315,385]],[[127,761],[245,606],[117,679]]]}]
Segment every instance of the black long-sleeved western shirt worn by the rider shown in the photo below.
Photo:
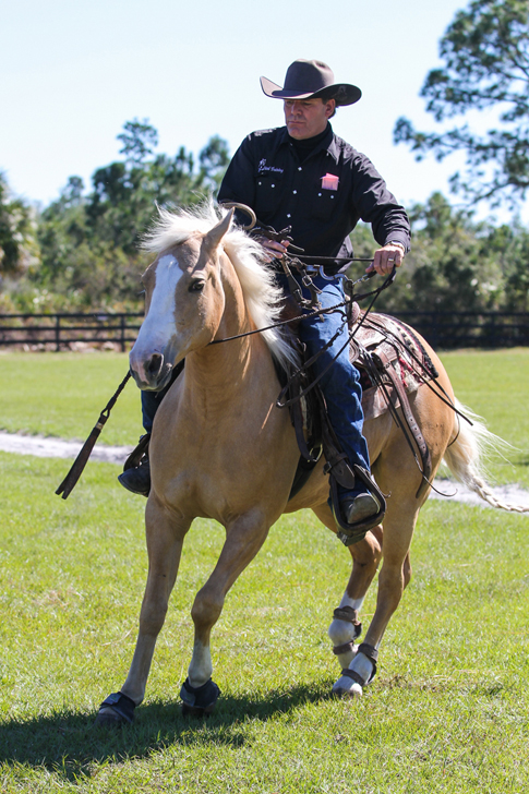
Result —
[{"label": "black long-sleeved western shirt worn by the rider", "polygon": [[[335,135],[330,124],[303,160],[286,127],[252,132],[233,155],[218,201],[249,205],[276,231],[291,226],[294,244],[312,256],[350,255],[349,233],[359,219],[371,224],[380,245],[400,242],[409,251],[405,209],[371,160]],[[245,216],[241,220],[248,222]]]}]

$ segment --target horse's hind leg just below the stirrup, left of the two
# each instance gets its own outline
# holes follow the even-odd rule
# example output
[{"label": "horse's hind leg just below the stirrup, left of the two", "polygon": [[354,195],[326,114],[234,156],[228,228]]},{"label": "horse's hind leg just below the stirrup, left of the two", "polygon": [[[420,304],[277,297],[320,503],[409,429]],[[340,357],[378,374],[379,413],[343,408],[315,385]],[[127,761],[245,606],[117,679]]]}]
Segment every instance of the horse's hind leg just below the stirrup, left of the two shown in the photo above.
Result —
[{"label": "horse's hind leg just below the stirrup, left of the two", "polygon": [[[314,508],[314,513],[326,527],[336,532],[336,524],[327,504]],[[348,667],[357,652],[354,640],[362,630],[359,613],[382,558],[382,527],[375,527],[362,541],[348,549],[352,557],[351,576],[328,627],[333,652],[340,669]]]}]

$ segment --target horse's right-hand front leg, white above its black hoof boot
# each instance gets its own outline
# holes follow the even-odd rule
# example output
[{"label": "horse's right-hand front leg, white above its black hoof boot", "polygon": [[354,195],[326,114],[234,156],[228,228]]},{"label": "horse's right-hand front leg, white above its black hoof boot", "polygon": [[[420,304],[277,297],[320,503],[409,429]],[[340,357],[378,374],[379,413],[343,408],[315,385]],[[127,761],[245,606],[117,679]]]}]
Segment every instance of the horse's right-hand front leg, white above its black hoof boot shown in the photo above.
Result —
[{"label": "horse's right-hand front leg, white above its black hoof boot", "polygon": [[220,616],[228,590],[260,551],[272,524],[262,510],[254,509],[226,526],[226,542],[217,565],[196,593],[191,610],[195,636],[188,679],[180,693],[184,712],[209,713],[215,706],[219,689],[212,681],[212,628]]}]

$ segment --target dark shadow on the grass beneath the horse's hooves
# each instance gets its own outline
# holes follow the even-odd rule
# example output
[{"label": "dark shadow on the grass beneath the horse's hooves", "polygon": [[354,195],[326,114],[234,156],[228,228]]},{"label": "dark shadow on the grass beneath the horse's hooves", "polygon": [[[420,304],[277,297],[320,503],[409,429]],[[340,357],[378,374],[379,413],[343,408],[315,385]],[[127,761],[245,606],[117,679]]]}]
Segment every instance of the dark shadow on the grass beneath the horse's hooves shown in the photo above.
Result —
[{"label": "dark shadow on the grass beneath the horse's hooves", "polygon": [[69,711],[26,722],[0,725],[0,762],[16,767],[45,767],[70,781],[92,777],[101,765],[146,758],[170,745],[245,744],[248,720],[266,722],[304,703],[327,700],[332,681],[287,690],[270,690],[260,698],[221,696],[215,712],[204,719],[184,718],[176,702],[141,706],[132,725],[94,726],[95,713]]}]

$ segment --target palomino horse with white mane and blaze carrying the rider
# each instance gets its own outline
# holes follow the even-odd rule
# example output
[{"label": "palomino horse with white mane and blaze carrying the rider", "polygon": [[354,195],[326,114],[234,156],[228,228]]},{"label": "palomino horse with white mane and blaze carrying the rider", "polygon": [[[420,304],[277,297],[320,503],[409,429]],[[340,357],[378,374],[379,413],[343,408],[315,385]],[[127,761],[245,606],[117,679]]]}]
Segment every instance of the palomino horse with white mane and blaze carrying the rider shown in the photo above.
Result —
[{"label": "palomino horse with white mane and blaze carrying the rider", "polygon": [[[231,228],[232,210],[203,207],[194,213],[161,210],[146,248],[155,262],[143,276],[146,316],[130,354],[140,388],[160,389],[185,358],[156,414],[149,458],[152,490],[146,505],[148,577],[132,664],[121,690],[101,705],[99,723],[131,721],[144,699],[157,636],[164,625],[183,541],[196,517],[226,528],[226,541],[209,579],[196,594],[195,637],[182,699],[192,710],[211,711],[218,688],[212,682],[209,638],[226,594],[260,551],[282,513],[311,507],[336,532],[328,478],[322,460],[289,502],[299,450],[288,411],[276,407],[279,388],[273,356],[291,359],[277,330],[233,337],[269,326],[278,316],[278,289],[262,249]],[[447,374],[424,342],[454,399]],[[479,473],[477,425],[470,428],[428,387],[410,405],[430,448],[433,474],[445,457],[452,471],[488,498]],[[478,431],[483,433],[482,426]],[[376,527],[349,548],[352,573],[329,628],[341,669],[336,694],[358,696],[375,670],[386,626],[410,580],[409,549],[428,490],[421,484],[407,442],[386,411],[365,422],[372,471],[387,498],[384,529]],[[486,433],[486,431],[484,431]],[[478,433],[479,434],[479,433]],[[382,542],[382,538],[384,538]],[[360,650],[353,641],[358,613],[382,562],[376,611]],[[363,648],[371,649],[363,652]]]}]

